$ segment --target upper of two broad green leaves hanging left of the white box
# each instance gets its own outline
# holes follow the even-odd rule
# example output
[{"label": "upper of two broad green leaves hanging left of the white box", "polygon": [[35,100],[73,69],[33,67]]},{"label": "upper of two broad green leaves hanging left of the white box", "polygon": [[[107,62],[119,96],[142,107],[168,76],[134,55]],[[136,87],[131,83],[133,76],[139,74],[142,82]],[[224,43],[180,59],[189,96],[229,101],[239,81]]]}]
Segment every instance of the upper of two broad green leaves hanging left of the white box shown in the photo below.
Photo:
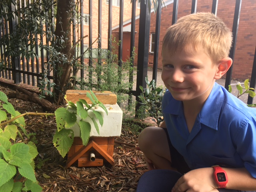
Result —
[{"label": "upper of two broad green leaves hanging left of the white box", "polygon": [[69,112],[66,108],[58,108],[55,111],[58,131],[63,128],[71,128],[76,123],[76,114]]}]

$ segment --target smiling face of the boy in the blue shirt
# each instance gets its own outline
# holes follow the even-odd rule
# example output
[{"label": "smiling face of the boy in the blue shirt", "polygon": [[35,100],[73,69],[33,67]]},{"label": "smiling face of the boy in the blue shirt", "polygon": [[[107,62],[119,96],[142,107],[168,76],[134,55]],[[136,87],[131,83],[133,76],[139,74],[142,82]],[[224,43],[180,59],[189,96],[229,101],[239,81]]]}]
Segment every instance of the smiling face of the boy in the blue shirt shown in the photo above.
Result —
[{"label": "smiling face of the boy in the blue shirt", "polygon": [[162,65],[162,80],[174,99],[204,102],[208,98],[218,65],[202,48],[188,45],[172,56],[163,48]]}]

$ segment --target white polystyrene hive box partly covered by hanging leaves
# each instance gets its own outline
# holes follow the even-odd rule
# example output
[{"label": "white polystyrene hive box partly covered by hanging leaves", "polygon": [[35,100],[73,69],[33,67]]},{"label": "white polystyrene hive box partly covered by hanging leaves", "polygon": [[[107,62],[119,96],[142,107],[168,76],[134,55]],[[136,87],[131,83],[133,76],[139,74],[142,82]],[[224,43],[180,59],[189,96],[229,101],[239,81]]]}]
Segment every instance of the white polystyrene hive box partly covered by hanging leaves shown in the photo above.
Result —
[{"label": "white polystyrene hive box partly covered by hanging leaves", "polygon": [[[88,116],[94,117],[96,122],[99,126],[100,135],[98,134],[91,118],[87,117],[84,121],[89,122],[91,124],[91,132],[90,136],[98,136],[98,137],[113,137],[113,136],[120,136],[121,135],[121,128],[122,128],[122,117],[123,112],[118,104],[104,104],[106,109],[108,110],[108,115],[106,112],[101,108],[97,107],[95,110],[100,112],[103,117],[103,126],[101,127],[99,120],[95,117],[92,110],[88,111]],[[68,108],[68,111],[72,112],[72,108]],[[77,116],[77,123],[81,118]],[[74,130],[74,136],[80,137],[80,127],[78,124],[75,124],[72,129]]]}]

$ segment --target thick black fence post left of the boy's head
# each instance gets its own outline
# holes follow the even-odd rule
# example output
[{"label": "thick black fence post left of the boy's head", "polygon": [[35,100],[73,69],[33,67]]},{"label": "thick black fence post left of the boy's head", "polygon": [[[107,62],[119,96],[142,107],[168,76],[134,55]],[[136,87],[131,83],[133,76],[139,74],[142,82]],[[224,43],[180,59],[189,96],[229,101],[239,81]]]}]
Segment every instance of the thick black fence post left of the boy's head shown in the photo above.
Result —
[{"label": "thick black fence post left of the boy's head", "polygon": [[[138,41],[138,66],[137,66],[137,82],[136,82],[136,101],[140,102],[140,86],[146,88],[145,77],[148,74],[148,48],[149,48],[149,32],[150,32],[150,12],[148,10],[148,1],[142,1],[140,4],[140,24],[139,24],[139,41]],[[139,109],[136,105],[136,111]]]}]

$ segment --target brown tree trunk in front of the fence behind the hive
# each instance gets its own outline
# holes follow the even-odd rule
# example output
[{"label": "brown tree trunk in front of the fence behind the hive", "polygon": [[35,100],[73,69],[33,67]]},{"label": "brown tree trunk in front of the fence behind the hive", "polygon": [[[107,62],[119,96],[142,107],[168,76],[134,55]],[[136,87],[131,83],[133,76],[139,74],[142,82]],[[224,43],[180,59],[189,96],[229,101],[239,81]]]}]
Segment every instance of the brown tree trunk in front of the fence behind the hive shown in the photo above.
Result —
[{"label": "brown tree trunk in front of the fence behind the hive", "polygon": [[[64,40],[64,46],[62,47],[60,53],[65,54],[66,58],[72,58],[72,40],[71,40],[71,17],[73,10],[73,0],[58,0],[57,5],[57,15],[56,15],[56,30],[55,35],[57,38]],[[71,62],[68,63],[56,63],[56,69],[54,73],[54,83],[57,87],[54,92],[57,95],[56,104],[65,104],[64,95],[67,90],[67,86],[70,84],[70,75],[72,65]]]}]

